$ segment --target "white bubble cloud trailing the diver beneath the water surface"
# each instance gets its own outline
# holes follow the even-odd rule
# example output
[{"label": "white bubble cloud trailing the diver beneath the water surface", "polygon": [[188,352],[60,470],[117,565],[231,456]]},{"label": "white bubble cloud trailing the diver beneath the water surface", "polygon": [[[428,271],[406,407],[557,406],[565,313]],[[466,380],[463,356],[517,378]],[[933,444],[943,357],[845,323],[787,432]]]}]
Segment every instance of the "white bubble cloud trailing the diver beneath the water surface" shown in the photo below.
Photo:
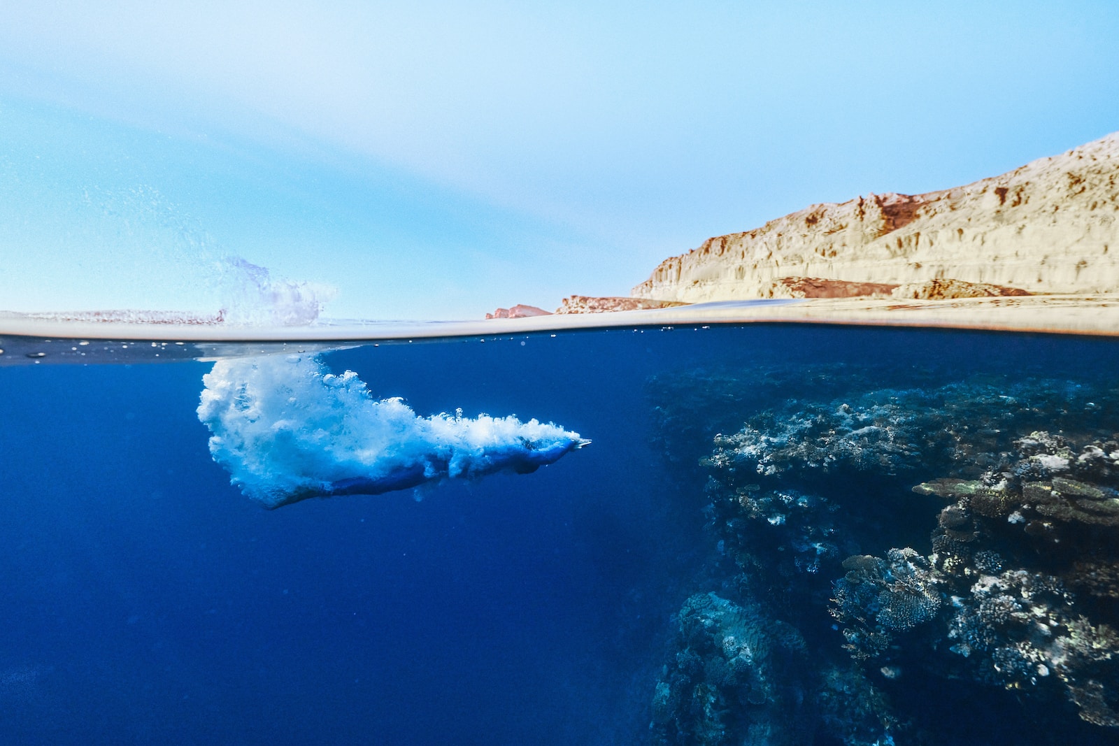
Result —
[{"label": "white bubble cloud trailing the diver beneath the water surface", "polygon": [[214,460],[266,508],[308,498],[379,494],[498,471],[529,473],[590,441],[536,419],[421,417],[376,400],[357,374],[317,356],[219,360],[203,377],[198,418]]}]

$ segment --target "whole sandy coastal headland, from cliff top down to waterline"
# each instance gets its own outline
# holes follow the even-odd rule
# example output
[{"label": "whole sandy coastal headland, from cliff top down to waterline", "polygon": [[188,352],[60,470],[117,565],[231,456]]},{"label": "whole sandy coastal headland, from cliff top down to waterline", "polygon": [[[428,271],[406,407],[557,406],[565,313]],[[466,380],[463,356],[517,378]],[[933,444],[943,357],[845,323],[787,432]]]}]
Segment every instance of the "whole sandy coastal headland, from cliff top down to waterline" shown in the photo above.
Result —
[{"label": "whole sandy coastal headland, from cliff top down to waterline", "polygon": [[811,205],[556,313],[802,299],[751,315],[1119,333],[1117,293],[1119,132],[961,187]]}]

